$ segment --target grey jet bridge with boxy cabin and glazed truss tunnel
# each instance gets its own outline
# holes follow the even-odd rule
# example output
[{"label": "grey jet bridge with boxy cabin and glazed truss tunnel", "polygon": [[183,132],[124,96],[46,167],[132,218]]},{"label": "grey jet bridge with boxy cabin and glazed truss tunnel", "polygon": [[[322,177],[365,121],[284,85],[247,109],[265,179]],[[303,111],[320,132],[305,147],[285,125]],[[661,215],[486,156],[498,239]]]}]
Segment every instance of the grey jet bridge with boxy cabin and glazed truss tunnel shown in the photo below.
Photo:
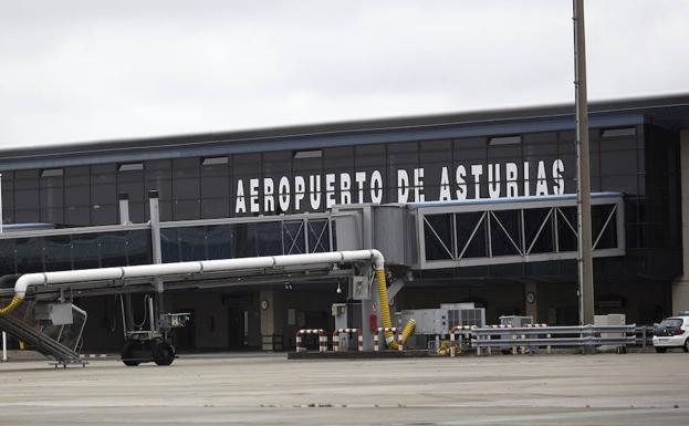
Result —
[{"label": "grey jet bridge with boxy cabin and glazed truss tunnel", "polygon": [[[592,195],[593,256],[625,256],[623,195]],[[338,206],[338,249],[375,247],[410,270],[576,259],[576,196]]]}]

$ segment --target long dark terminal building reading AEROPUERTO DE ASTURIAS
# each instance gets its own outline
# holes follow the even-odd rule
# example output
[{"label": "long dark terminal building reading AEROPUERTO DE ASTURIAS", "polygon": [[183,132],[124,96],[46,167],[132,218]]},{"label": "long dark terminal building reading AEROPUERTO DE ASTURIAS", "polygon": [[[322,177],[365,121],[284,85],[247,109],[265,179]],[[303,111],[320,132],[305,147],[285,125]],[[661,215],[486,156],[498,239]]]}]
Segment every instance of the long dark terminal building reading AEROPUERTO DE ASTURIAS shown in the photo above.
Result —
[{"label": "long dark terminal building reading AEROPUERTO DE ASTURIAS", "polygon": [[[574,126],[561,105],[3,150],[0,277],[154,262],[153,195],[163,262],[376,248],[395,310],[575,324]],[[689,95],[593,103],[589,127],[596,313],[689,309]],[[297,329],[332,330],[342,285],[170,291],[192,313],[175,344],[293,347]],[[85,347],[118,349],[117,299],[77,304]]]}]

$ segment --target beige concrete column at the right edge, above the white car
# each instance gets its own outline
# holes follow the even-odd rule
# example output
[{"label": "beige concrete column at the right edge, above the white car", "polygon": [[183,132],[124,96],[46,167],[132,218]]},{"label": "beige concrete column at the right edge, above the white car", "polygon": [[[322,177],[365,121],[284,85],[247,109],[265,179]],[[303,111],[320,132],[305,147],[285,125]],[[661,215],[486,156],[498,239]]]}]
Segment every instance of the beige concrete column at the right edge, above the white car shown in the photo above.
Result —
[{"label": "beige concrete column at the right edge, above the white car", "polygon": [[689,129],[680,132],[682,201],[682,276],[672,283],[672,315],[689,310]]}]

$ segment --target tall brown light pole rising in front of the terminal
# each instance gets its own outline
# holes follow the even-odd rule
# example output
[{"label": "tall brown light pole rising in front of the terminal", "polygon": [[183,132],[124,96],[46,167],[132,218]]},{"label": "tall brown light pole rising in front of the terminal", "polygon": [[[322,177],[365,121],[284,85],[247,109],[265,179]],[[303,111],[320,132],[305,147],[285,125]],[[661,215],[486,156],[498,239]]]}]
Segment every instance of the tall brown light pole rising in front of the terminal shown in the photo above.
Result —
[{"label": "tall brown light pole rising in front of the terminal", "polygon": [[591,238],[591,181],[588,168],[588,105],[586,98],[586,43],[584,0],[574,0],[574,91],[576,106],[576,214],[580,324],[593,324],[593,256]]}]

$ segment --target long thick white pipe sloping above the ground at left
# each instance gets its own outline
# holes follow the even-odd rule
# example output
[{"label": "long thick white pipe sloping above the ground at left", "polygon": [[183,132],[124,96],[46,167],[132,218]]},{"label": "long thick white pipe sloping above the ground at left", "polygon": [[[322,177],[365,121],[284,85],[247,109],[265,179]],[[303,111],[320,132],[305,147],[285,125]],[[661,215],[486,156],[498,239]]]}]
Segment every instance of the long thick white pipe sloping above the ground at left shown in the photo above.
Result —
[{"label": "long thick white pipe sloping above the ground at left", "polygon": [[267,256],[261,258],[205,260],[198,262],[138,264],[122,268],[27,273],[19,277],[14,283],[14,294],[17,298],[23,299],[27,295],[27,289],[31,285],[123,280],[127,278],[201,274],[205,272],[254,270],[320,263],[361,262],[366,260],[373,261],[375,269],[384,269],[385,267],[385,258],[378,250],[331,251],[324,253]]}]

